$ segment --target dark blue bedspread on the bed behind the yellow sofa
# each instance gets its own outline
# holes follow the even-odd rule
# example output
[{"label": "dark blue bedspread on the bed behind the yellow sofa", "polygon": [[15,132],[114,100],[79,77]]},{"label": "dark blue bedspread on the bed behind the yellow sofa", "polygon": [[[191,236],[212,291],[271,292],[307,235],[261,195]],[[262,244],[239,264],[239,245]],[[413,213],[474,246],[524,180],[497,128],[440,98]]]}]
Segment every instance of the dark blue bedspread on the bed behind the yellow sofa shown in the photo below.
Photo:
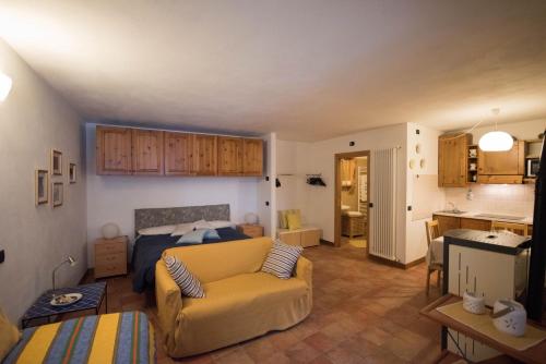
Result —
[{"label": "dark blue bedspread on the bed behind the yellow sofa", "polygon": [[[219,239],[205,239],[202,244],[223,243],[234,240],[250,239],[250,236],[232,228],[216,229]],[[180,236],[142,235],[134,242],[132,254],[133,291],[144,292],[155,287],[155,264],[162,257],[163,251],[169,247],[188,246],[176,244]]]}]

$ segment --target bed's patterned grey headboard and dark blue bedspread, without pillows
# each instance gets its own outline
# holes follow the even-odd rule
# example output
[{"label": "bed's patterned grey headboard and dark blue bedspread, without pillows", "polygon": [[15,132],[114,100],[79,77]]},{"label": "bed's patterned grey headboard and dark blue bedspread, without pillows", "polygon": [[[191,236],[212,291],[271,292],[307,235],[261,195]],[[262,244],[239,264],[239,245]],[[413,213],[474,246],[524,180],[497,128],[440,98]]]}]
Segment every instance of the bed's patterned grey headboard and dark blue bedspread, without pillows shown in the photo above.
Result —
[{"label": "bed's patterned grey headboard and dark blue bedspread, without pillows", "polygon": [[[159,227],[165,225],[186,223],[198,220],[229,220],[229,205],[207,205],[169,208],[143,208],[134,210],[134,229]],[[219,239],[205,239],[203,244],[223,243],[235,240],[250,239],[233,228],[216,229]],[[132,253],[133,291],[145,292],[155,287],[155,264],[163,251],[174,246],[180,236],[143,235],[138,236]]]}]

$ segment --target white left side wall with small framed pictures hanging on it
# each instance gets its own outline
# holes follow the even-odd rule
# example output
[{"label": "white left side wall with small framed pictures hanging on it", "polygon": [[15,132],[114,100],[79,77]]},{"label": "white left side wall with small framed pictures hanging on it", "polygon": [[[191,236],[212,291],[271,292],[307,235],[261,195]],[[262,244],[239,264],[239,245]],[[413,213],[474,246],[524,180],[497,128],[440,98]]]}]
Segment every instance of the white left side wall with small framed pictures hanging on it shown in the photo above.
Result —
[{"label": "white left side wall with small framed pictures hanging on it", "polygon": [[[59,284],[76,284],[86,266],[85,174],[82,126],[78,114],[23,60],[0,40],[0,69],[13,89],[0,102],[0,305],[19,319],[45,290],[51,271],[67,255],[80,264],[58,271]],[[64,204],[35,206],[34,172],[49,169],[50,149],[63,153]],[[78,163],[79,180],[69,184],[67,161]],[[82,173],[83,171],[83,173]]]}]

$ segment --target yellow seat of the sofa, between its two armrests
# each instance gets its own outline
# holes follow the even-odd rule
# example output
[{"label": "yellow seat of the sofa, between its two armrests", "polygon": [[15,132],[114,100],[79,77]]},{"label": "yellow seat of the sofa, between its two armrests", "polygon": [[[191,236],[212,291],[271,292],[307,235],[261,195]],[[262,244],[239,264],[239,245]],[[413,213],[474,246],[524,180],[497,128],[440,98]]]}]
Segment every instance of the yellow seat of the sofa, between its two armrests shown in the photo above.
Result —
[{"label": "yellow seat of the sofa, between its two armrests", "polygon": [[205,299],[182,299],[185,316],[215,317],[237,312],[270,311],[283,301],[298,299],[308,291],[301,279],[277,279],[265,274],[245,274],[203,284]]}]

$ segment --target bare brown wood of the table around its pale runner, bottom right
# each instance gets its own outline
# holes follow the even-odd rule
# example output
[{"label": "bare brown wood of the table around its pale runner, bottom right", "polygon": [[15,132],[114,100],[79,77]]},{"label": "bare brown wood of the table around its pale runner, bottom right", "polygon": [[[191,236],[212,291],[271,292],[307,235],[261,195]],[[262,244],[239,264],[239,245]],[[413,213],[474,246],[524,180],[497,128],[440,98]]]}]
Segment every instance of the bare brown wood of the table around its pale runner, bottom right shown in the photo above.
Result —
[{"label": "bare brown wood of the table around its pale runner, bottom right", "polygon": [[[439,323],[443,327],[453,329],[453,330],[459,331],[467,337],[473,338],[474,340],[480,341],[484,344],[486,344],[495,350],[498,350],[501,353],[505,353],[510,357],[517,359],[517,360],[522,361],[524,363],[531,363],[531,364],[545,363],[545,360],[546,360],[546,340],[543,340],[538,344],[536,344],[527,350],[523,350],[523,351],[515,350],[515,349],[507,347],[507,345],[489,338],[488,336],[485,336],[485,335],[470,328],[468,326],[464,325],[463,323],[458,321],[458,320],[455,320],[455,319],[453,319],[453,318],[451,318],[451,317],[449,317],[449,316],[447,316],[447,315],[444,315],[441,312],[436,310],[440,306],[446,306],[446,305],[449,305],[449,304],[452,304],[452,303],[455,303],[459,301],[462,301],[462,299],[456,296],[456,295],[448,293],[448,294],[439,298],[435,302],[430,303],[428,306],[424,307],[420,311],[420,314],[424,315],[425,317],[428,317],[428,318]],[[533,326],[538,327],[538,328],[544,328],[543,326],[541,326],[534,321],[527,321],[527,324],[533,325]],[[443,356],[444,356],[444,353],[443,353],[442,357]]]}]

